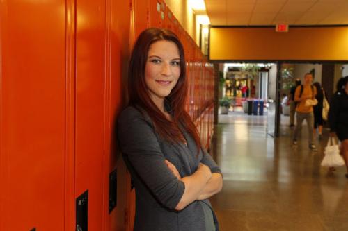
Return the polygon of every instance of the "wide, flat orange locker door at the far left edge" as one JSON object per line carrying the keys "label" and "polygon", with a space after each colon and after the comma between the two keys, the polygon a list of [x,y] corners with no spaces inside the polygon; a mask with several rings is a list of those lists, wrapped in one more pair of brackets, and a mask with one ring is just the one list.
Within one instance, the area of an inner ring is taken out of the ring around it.
{"label": "wide, flat orange locker door at the far left edge", "polygon": [[0,3],[3,231],[64,230],[65,16],[63,0]]}

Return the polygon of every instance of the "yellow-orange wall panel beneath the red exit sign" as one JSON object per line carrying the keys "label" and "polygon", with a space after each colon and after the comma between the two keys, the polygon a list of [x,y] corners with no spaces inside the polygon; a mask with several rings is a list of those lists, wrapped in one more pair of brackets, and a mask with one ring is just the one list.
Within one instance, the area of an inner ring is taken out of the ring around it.
{"label": "yellow-orange wall panel beneath the red exit sign", "polygon": [[211,28],[210,60],[348,60],[348,26]]}

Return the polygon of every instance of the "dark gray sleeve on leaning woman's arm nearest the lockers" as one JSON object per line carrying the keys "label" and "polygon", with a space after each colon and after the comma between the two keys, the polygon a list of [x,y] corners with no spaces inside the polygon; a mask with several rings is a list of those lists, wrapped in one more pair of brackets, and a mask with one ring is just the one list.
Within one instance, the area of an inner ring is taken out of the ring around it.
{"label": "dark gray sleeve on leaning woman's arm nearest the lockers", "polygon": [[175,209],[185,186],[166,166],[152,123],[127,108],[118,119],[118,140],[122,154],[159,203]]}

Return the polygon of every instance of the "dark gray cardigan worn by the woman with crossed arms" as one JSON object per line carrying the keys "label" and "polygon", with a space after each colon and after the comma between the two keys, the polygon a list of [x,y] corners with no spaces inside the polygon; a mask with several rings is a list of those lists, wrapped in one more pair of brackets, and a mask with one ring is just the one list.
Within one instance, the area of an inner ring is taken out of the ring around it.
{"label": "dark gray cardigan worn by the woman with crossed arms", "polygon": [[[164,160],[173,163],[182,177],[191,176],[199,162],[209,166],[212,173],[221,171],[206,151],[201,150],[197,158],[194,139],[188,132],[182,132],[187,146],[169,144],[161,139],[150,117],[132,106],[118,117],[120,149],[136,190],[134,231],[205,230],[202,203],[211,207],[209,200],[196,200],[181,211],[176,211],[185,186],[175,178]],[[216,216],[214,220],[216,230],[219,230]]]}

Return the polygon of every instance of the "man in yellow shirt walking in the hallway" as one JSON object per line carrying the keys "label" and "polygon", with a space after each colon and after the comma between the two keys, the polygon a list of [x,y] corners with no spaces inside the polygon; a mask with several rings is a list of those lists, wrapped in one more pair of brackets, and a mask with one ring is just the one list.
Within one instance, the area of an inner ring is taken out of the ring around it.
{"label": "man in yellow shirt walking in the hallway", "polygon": [[[308,100],[314,100],[315,95],[317,94],[315,87],[312,86],[313,75],[307,73],[304,77],[304,84],[296,87],[294,94],[294,101],[297,102],[296,105],[296,126],[294,129],[294,135],[292,137],[292,144],[297,145],[297,137],[302,128],[303,120],[306,119],[308,126],[308,146],[310,150],[317,151],[317,148],[314,144],[313,137],[313,125],[314,125],[314,116],[313,116],[313,105],[309,105]],[[308,101],[308,102],[307,102]]]}

